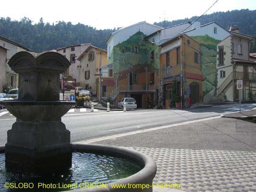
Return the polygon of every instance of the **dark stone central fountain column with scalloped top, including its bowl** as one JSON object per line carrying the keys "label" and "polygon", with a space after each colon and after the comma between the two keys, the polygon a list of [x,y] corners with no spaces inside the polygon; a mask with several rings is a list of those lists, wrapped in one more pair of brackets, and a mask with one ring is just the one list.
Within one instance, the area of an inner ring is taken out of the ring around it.
{"label": "dark stone central fountain column with scalloped top, including its bowl", "polygon": [[30,171],[69,168],[70,132],[61,117],[75,102],[59,101],[59,74],[69,61],[55,52],[19,52],[8,64],[19,73],[19,100],[4,102],[17,118],[7,133],[6,167]]}

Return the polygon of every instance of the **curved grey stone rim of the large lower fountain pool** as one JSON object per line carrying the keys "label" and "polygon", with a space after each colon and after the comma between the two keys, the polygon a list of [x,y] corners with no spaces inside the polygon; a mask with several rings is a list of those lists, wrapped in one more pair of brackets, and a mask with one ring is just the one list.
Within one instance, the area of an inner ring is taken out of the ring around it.
{"label": "curved grey stone rim of the large lower fountain pool", "polygon": [[[138,151],[126,149],[123,147],[114,147],[114,146],[104,146],[104,145],[95,145],[95,144],[72,144],[72,150],[74,152],[79,152],[79,153],[96,153],[96,154],[104,154],[106,156],[116,156],[118,158],[126,158],[126,159],[131,159],[133,161],[138,162],[139,164],[142,165],[142,169],[139,170],[139,172],[111,182],[106,184],[106,188],[75,188],[74,192],[152,192],[152,188],[112,188],[111,185],[113,184],[148,184],[149,186],[152,185],[152,181],[154,179],[154,176],[156,174],[156,164],[153,161],[153,159],[143,153],[140,153]],[[4,152],[4,147],[0,147],[0,153]],[[65,177],[65,176],[64,176]],[[100,176],[99,176],[100,177]],[[79,181],[83,181],[83,178]],[[12,181],[15,182],[15,181]],[[23,181],[24,182],[24,181]],[[41,182],[41,181],[39,181]],[[86,181],[83,181],[86,182]],[[96,181],[97,183],[97,181]],[[36,186],[36,185],[35,185]],[[79,186],[79,185],[78,185]],[[35,190],[37,188],[34,188]],[[68,189],[67,189],[68,190]],[[58,190],[56,190],[58,191]],[[63,189],[62,189],[63,191]],[[70,192],[70,190],[68,190]],[[66,191],[66,192],[68,192]]]}

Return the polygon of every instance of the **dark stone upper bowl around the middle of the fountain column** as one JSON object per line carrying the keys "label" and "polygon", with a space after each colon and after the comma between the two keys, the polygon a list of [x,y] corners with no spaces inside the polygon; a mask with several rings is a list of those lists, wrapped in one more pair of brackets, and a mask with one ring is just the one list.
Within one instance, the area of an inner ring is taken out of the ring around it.
{"label": "dark stone upper bowl around the middle of the fountain column", "polygon": [[59,121],[75,102],[70,101],[19,101],[3,102],[6,109],[23,121]]}

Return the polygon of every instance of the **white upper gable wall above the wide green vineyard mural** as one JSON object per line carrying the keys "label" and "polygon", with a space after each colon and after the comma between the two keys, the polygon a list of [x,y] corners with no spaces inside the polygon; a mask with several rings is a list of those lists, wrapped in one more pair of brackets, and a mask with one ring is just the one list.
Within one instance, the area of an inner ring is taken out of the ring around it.
{"label": "white upper gable wall above the wide green vineyard mural", "polygon": [[159,29],[162,29],[162,27],[152,25],[150,23],[146,23],[146,21],[143,21],[143,22],[139,22],[134,25],[127,26],[127,27],[121,28],[119,30],[116,30],[109,36],[109,38],[106,42],[107,48],[108,48],[108,57],[110,57],[112,49],[115,45],[127,40],[133,34],[136,34],[138,31],[142,32],[145,35],[149,35]]}

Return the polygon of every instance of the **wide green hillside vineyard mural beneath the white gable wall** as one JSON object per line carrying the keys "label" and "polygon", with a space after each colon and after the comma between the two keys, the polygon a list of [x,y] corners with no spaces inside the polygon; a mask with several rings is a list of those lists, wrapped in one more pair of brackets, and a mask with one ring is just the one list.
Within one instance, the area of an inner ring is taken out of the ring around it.
{"label": "wide green hillside vineyard mural beneath the white gable wall", "polygon": [[159,47],[146,41],[145,34],[138,31],[128,40],[114,46],[109,63],[113,62],[113,72],[118,73],[137,65],[159,67]]}

